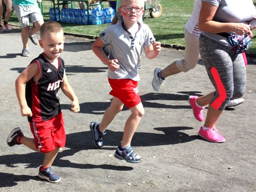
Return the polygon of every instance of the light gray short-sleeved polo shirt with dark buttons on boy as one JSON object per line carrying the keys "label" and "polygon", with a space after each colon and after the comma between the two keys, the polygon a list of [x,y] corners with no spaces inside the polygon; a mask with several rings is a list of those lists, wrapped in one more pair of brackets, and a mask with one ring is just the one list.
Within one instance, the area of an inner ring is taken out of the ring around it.
{"label": "light gray short-sleeved polo shirt with dark buttons on boy", "polygon": [[138,65],[144,47],[151,45],[153,33],[146,24],[140,24],[136,34],[130,34],[123,23],[108,26],[100,35],[101,40],[110,45],[110,59],[118,59],[119,69],[108,71],[110,79],[132,79],[138,81]]}

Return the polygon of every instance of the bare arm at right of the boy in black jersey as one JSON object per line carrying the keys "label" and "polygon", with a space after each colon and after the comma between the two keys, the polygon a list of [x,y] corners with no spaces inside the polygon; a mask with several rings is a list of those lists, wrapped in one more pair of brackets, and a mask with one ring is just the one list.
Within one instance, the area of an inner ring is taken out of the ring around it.
{"label": "bare arm at right of the boy in black jersey", "polygon": [[64,92],[64,94],[70,99],[72,100],[71,103],[71,111],[72,112],[79,112],[80,111],[80,106],[79,106],[79,101],[75,95],[75,93],[73,92],[72,87],[70,86],[70,84],[68,83],[66,74],[64,74],[64,78],[63,78],[63,82],[61,84],[61,90]]}

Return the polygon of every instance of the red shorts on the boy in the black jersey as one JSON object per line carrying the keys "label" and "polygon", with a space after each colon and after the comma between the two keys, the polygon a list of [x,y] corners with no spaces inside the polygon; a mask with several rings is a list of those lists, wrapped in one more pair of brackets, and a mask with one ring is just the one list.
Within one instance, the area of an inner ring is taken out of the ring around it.
{"label": "red shorts on the boy in the black jersey", "polygon": [[30,122],[29,125],[38,152],[48,153],[56,147],[65,146],[66,133],[62,112],[47,121]]}

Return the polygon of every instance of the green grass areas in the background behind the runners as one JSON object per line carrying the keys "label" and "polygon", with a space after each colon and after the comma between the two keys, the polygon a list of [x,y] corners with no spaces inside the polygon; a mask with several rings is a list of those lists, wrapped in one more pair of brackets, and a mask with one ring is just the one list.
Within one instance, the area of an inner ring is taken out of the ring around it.
{"label": "green grass areas in the background behind the runners", "polygon": [[[256,5],[256,0],[253,0]],[[44,19],[49,20],[49,8],[53,7],[51,1],[43,0]],[[185,45],[184,26],[189,19],[192,9],[193,0],[161,0],[163,7],[162,15],[159,18],[151,18],[146,10],[144,23],[149,25],[157,41],[171,45]],[[109,7],[108,2],[104,2],[104,7]],[[79,8],[77,2],[75,8]],[[9,20],[10,24],[19,25],[18,19],[14,14]],[[99,36],[110,24],[103,25],[77,25],[62,23],[64,32],[78,33],[84,35]],[[256,33],[256,30],[254,31]],[[249,52],[256,53],[256,36]]]}

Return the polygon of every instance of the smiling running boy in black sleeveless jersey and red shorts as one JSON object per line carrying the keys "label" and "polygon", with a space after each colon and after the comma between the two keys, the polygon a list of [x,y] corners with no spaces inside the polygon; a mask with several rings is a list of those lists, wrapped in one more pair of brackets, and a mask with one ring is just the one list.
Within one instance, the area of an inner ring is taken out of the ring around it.
{"label": "smiling running boy in black sleeveless jersey and red shorts", "polygon": [[7,144],[24,144],[32,150],[44,153],[45,158],[38,176],[57,183],[61,178],[55,174],[51,165],[59,148],[64,147],[66,141],[58,98],[59,89],[72,100],[73,112],[79,112],[80,107],[67,81],[64,61],[60,58],[65,41],[61,25],[55,21],[44,23],[40,29],[40,38],[39,44],[44,52],[31,61],[15,82],[21,115],[27,116],[34,139],[25,137],[18,127],[11,131]]}

